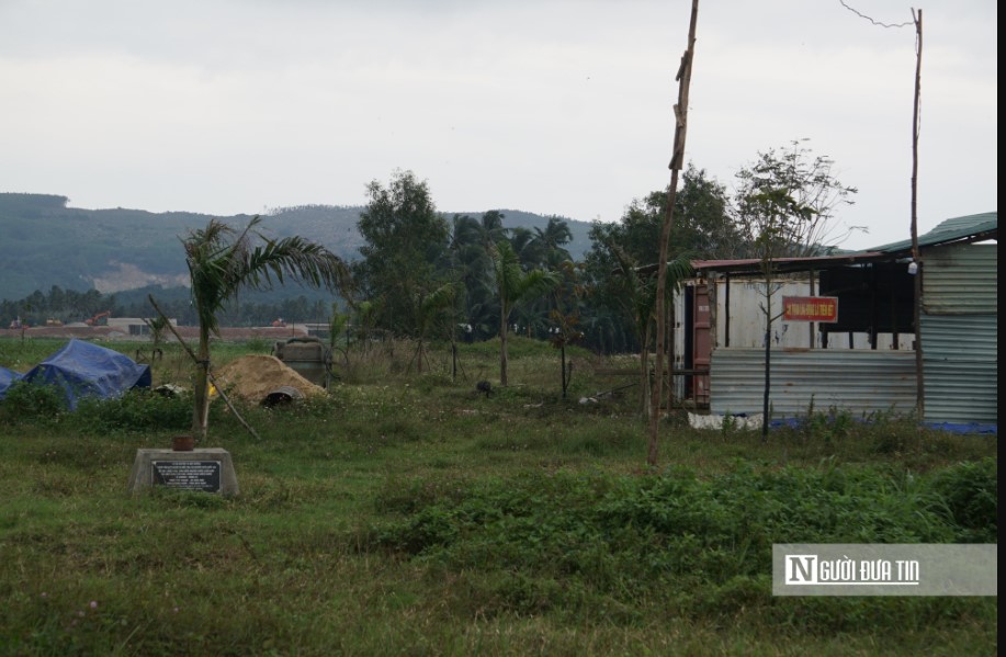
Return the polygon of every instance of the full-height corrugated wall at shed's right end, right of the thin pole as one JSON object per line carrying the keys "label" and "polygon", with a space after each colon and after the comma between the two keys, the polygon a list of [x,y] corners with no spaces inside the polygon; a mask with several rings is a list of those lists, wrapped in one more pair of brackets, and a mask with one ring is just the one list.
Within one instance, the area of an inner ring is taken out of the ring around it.
{"label": "full-height corrugated wall at shed's right end, right of the thin pole", "polygon": [[924,252],[926,419],[998,422],[997,245]]}

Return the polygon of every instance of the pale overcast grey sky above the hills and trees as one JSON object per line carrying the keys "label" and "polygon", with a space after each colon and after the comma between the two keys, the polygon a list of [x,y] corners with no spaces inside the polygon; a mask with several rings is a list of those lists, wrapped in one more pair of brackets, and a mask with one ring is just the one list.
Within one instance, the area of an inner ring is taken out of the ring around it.
{"label": "pale overcast grey sky above the hills and trees", "polygon": [[[447,213],[614,222],[670,181],[690,9],[0,0],[0,192],[257,214],[364,205],[402,170]],[[915,9],[925,233],[997,209],[997,8]],[[805,139],[858,189],[833,235],[866,231],[841,246],[908,239],[915,67],[911,4],[700,1],[686,161],[732,190],[759,152]]]}

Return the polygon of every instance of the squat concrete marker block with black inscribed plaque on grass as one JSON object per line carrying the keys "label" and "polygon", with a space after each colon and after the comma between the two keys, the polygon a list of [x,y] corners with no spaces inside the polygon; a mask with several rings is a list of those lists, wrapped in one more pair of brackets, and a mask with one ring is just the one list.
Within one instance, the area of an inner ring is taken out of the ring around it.
{"label": "squat concrete marker block with black inscribed plaque on grass", "polygon": [[230,452],[221,448],[191,452],[136,450],[129,491],[143,492],[154,487],[237,495],[238,479]]}

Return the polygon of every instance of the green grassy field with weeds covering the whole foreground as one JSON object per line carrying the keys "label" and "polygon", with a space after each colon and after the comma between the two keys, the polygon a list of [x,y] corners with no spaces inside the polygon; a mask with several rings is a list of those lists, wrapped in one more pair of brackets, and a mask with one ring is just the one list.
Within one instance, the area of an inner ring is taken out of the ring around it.
{"label": "green grassy field with weeds covering the whole foreground", "polygon": [[[0,342],[24,372],[63,342]],[[106,344],[132,354],[135,343]],[[264,343],[217,344],[214,362]],[[215,403],[241,494],[126,491],[137,449],[188,430],[189,399],[61,411],[0,401],[2,655],[994,655],[995,598],[773,598],[772,543],[996,543],[995,435],[843,415],[700,432],[660,466],[632,383],[515,340],[425,372],[351,350],[323,398]],[[155,385],[189,382],[177,346]]]}

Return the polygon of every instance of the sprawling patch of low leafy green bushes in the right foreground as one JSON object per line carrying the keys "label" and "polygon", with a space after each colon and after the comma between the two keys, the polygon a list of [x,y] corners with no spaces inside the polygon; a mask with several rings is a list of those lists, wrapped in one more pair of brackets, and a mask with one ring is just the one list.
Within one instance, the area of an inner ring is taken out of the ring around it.
{"label": "sprawling patch of low leafy green bushes in the right foreground", "polygon": [[[692,613],[727,613],[736,604],[769,603],[775,543],[994,542],[995,494],[994,462],[936,479],[834,464],[767,472],[741,464],[710,479],[688,469],[535,474],[385,491],[378,510],[404,517],[374,535],[382,550],[434,568],[479,569],[489,579],[522,573],[624,604],[664,596],[674,581],[700,602]],[[934,499],[945,501],[937,509]],[[494,591],[500,610],[523,608],[501,593]],[[563,604],[555,599],[541,608]]]}

